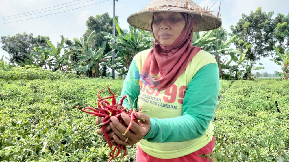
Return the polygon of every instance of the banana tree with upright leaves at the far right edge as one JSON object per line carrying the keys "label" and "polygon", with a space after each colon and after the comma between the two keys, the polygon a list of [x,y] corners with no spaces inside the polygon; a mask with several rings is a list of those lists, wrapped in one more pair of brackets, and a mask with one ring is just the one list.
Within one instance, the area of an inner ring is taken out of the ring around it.
{"label": "banana tree with upright leaves at the far right edge", "polygon": [[283,76],[283,79],[288,79],[289,48],[287,48],[287,50],[284,50],[285,51],[284,54],[280,53],[279,48],[277,48],[277,47],[273,47],[273,48],[274,48],[277,56],[279,57],[279,60],[277,60],[277,59],[270,59],[270,60],[281,66],[283,72],[282,73],[277,72],[279,74],[279,76]]}

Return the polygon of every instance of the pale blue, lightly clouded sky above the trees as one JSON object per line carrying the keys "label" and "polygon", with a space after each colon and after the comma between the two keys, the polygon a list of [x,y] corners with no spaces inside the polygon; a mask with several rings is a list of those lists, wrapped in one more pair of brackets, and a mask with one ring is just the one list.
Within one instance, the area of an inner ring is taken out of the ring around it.
{"label": "pale blue, lightly clouded sky above the trees", "polygon": [[[115,15],[119,16],[120,27],[129,29],[127,17],[141,11],[150,1],[115,1]],[[202,8],[212,6],[210,10],[216,11],[215,14],[221,3],[222,27],[229,33],[230,26],[236,25],[242,14],[249,15],[258,7],[262,7],[262,12],[267,14],[273,11],[273,18],[278,13],[284,15],[289,13],[288,0],[195,0],[194,2]],[[56,45],[61,40],[60,35],[71,40],[82,37],[87,29],[85,23],[88,17],[105,12],[113,16],[113,0],[0,0],[0,36],[33,33],[34,37],[49,36],[51,42]],[[0,58],[3,55],[9,57],[0,44]],[[273,74],[275,71],[281,71],[281,67],[268,58],[261,59],[260,62],[265,67],[259,70],[260,73]]]}

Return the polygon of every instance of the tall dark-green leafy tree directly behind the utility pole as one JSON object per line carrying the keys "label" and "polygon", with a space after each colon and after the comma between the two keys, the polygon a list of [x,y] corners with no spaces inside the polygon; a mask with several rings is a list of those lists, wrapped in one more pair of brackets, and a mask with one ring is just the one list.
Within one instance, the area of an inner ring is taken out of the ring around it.
{"label": "tall dark-green leafy tree directly behind the utility pole", "polygon": [[[115,16],[115,19],[118,21],[118,16]],[[91,48],[93,51],[98,50],[98,48],[101,46],[103,41],[108,41],[104,35],[101,34],[101,31],[111,33],[112,34],[112,21],[113,18],[110,17],[110,15],[105,12],[102,15],[96,15],[95,17],[90,16],[88,20],[86,21],[87,30],[83,34],[83,39],[86,41],[90,34],[95,31],[95,36],[93,39],[89,42],[88,48]],[[109,45],[106,45],[105,53],[108,53],[110,51]]]}

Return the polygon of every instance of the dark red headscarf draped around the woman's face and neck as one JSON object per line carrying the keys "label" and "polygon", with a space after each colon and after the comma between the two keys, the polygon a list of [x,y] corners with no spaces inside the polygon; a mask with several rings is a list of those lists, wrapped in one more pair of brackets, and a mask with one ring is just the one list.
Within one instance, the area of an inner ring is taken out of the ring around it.
{"label": "dark red headscarf draped around the woman's face and neck", "polygon": [[[181,35],[170,46],[162,46],[155,39],[153,49],[142,65],[142,74],[150,80],[151,87],[166,89],[171,86],[201,50],[200,47],[191,44],[194,19],[187,13],[183,14],[186,24]],[[152,27],[151,29],[153,30]],[[155,35],[153,37],[155,38]]]}

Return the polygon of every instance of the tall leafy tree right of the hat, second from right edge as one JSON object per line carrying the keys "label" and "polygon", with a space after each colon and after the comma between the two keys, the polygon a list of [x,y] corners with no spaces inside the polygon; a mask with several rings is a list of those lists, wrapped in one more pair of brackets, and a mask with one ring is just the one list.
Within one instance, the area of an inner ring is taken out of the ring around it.
{"label": "tall leafy tree right of the hat, second from right edge", "polygon": [[255,61],[267,57],[274,45],[274,25],[271,18],[274,12],[266,14],[259,7],[249,15],[242,14],[242,18],[236,26],[231,26],[232,34],[236,34],[240,40],[234,41],[235,46],[244,51],[248,49],[246,59],[249,61],[248,77],[251,78],[251,69]]}

